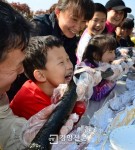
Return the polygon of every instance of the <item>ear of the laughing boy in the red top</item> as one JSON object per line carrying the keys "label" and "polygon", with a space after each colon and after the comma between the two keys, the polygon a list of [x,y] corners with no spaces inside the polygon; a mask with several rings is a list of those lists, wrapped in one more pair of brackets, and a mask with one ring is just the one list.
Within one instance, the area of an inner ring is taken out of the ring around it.
{"label": "ear of the laughing boy in the red top", "polygon": [[34,75],[35,79],[39,82],[45,82],[46,81],[46,76],[45,76],[43,70],[34,70],[33,75]]}

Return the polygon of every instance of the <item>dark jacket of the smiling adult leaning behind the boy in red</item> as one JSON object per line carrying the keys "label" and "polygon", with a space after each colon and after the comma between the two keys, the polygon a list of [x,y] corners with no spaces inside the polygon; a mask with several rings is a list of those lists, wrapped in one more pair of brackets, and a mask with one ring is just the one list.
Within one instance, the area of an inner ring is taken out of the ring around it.
{"label": "dark jacket of the smiling adult leaning behind the boy in red", "polygon": [[79,39],[77,37],[67,38],[62,34],[54,13],[35,16],[32,24],[34,28],[32,36],[54,35],[61,39],[71,62],[75,66],[77,61],[75,51]]}

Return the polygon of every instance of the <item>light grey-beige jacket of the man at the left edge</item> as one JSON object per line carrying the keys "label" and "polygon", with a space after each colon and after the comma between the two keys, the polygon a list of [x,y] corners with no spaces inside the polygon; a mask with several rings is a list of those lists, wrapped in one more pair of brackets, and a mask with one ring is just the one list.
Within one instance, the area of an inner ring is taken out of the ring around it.
{"label": "light grey-beige jacket of the man at the left edge", "polygon": [[27,122],[24,118],[15,116],[9,108],[9,100],[6,94],[0,96],[0,149],[22,150],[21,132]]}

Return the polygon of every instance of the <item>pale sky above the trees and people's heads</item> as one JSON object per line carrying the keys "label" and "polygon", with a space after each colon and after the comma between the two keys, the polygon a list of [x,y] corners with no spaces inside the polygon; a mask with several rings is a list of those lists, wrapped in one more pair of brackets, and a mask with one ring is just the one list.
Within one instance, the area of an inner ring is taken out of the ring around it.
{"label": "pale sky above the trees and people's heads", "polygon": [[[30,7],[31,10],[47,10],[53,5],[57,3],[58,0],[7,0],[8,2],[20,2],[26,3]],[[106,4],[108,0],[93,0],[96,3],[102,3],[103,5]],[[132,14],[135,17],[135,0],[123,0],[126,6],[132,9]]]}

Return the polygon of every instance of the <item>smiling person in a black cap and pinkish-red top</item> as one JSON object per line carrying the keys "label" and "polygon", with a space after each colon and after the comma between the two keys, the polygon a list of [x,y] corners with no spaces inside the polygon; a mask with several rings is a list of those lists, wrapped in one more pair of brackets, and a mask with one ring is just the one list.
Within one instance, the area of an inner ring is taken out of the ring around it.
{"label": "smiling person in a black cap and pinkish-red top", "polygon": [[106,5],[107,21],[105,33],[114,33],[116,27],[120,26],[127,17],[127,13],[131,12],[122,0],[109,0]]}

